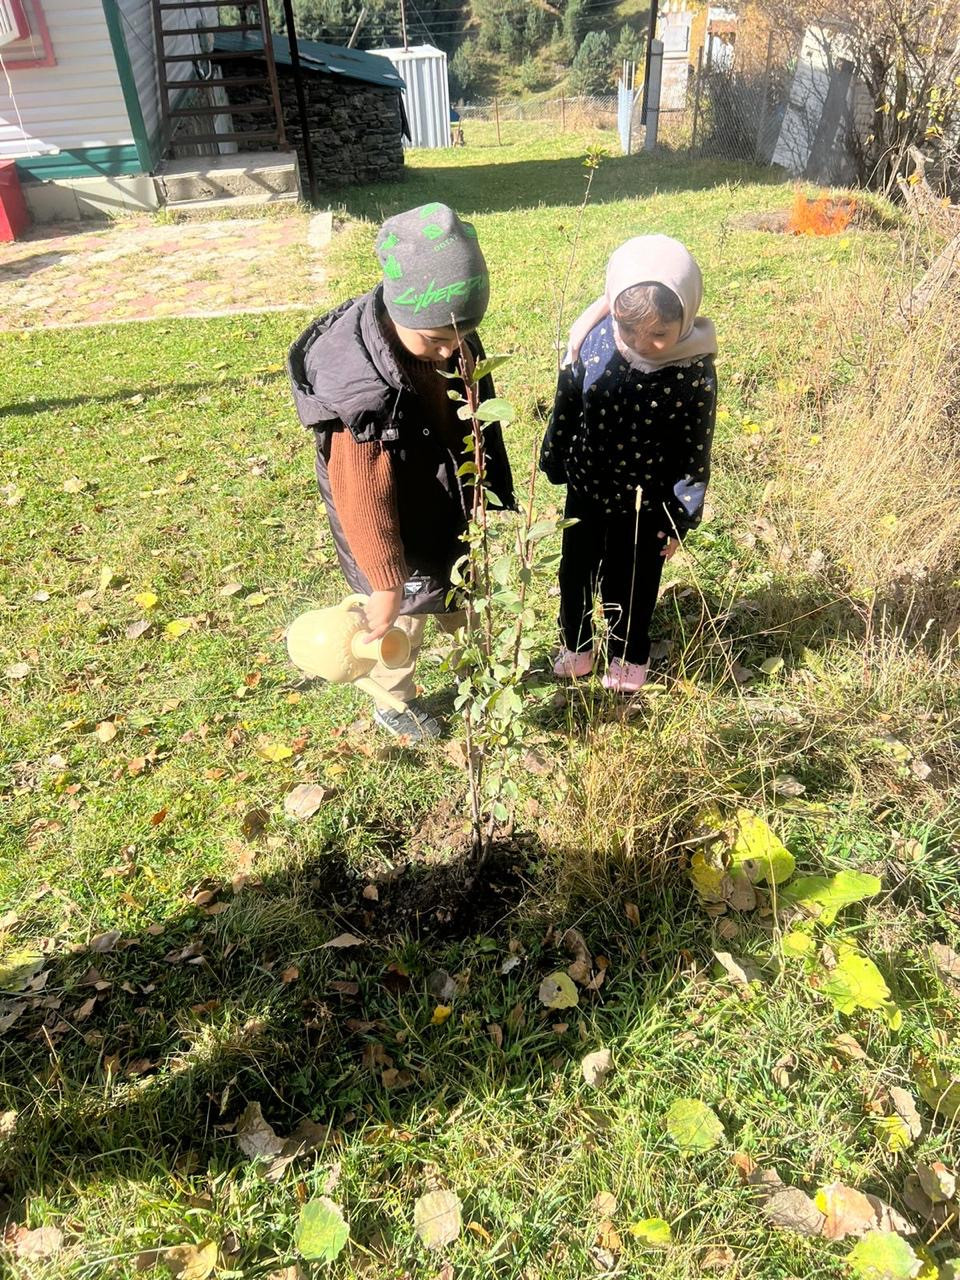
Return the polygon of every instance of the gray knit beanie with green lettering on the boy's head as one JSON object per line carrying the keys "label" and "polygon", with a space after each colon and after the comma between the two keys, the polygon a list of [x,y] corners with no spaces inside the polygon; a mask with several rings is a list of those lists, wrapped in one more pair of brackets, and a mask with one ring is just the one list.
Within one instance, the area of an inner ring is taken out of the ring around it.
{"label": "gray knit beanie with green lettering on the boy's head", "polygon": [[476,230],[447,205],[388,218],[376,237],[387,314],[407,329],[463,328],[483,320],[490,276]]}

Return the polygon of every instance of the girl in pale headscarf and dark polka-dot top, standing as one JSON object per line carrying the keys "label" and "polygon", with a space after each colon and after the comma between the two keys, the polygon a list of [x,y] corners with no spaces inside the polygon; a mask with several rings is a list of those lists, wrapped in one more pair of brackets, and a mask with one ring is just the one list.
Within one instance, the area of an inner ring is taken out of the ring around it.
{"label": "girl in pale headscarf and dark polka-dot top, standing", "polygon": [[559,568],[563,646],[554,673],[594,668],[593,605],[609,632],[607,689],[646,680],[664,561],[703,512],[717,408],[717,338],[698,315],[703,278],[668,236],[637,236],[576,320],[540,467],[567,485]]}

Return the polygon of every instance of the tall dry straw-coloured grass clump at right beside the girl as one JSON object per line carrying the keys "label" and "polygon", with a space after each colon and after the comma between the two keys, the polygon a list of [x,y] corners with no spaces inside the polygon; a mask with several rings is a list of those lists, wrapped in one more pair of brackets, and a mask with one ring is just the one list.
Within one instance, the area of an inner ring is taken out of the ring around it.
{"label": "tall dry straw-coloured grass clump at right beside the girl", "polygon": [[800,370],[776,383],[771,511],[781,534],[808,554],[822,552],[854,594],[923,599],[954,628],[960,271],[941,273],[925,306],[909,307],[924,257],[942,243],[929,223],[916,225],[886,279],[864,257],[852,284],[819,294]]}

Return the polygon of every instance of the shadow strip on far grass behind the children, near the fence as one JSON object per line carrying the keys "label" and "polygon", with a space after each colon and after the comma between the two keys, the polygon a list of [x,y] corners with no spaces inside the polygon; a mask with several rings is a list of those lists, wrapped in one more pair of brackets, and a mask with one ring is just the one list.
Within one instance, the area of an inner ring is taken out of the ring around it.
{"label": "shadow strip on far grass behind the children, near the fence", "polygon": [[[484,148],[486,154],[488,148]],[[463,164],[463,154],[460,152],[460,159],[451,165],[407,169],[402,183],[348,187],[337,193],[337,202],[355,216],[375,221],[399,207],[428,200],[444,201],[463,214],[580,204],[585,178],[581,157],[511,160],[509,145],[490,148],[489,155],[489,163]],[[590,204],[603,205],[676,191],[707,191],[740,182],[777,186],[782,174],[778,169],[730,160],[608,156],[594,177]]]}

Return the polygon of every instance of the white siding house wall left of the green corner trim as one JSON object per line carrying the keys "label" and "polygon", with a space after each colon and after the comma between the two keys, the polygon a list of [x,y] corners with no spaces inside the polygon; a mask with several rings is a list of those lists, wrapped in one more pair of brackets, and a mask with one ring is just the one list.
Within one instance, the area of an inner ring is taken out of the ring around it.
{"label": "white siding house wall left of the green corner trim", "polygon": [[46,0],[44,14],[56,65],[9,65],[13,99],[0,74],[0,157],[132,143],[100,0]]}

